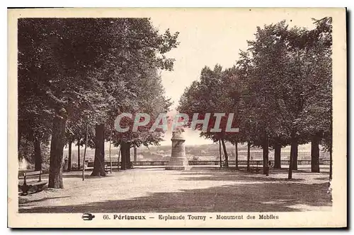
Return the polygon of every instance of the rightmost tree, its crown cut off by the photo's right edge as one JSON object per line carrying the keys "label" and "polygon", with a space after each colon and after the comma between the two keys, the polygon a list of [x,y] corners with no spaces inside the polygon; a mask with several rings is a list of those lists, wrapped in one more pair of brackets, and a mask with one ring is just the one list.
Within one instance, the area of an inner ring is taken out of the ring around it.
{"label": "rightmost tree, its crown cut off by the photo's right edge", "polygon": [[[312,172],[319,172],[319,144],[330,152],[332,135],[332,19],[314,20],[316,28],[308,32],[308,44],[304,47],[312,52],[316,69],[314,78],[318,81],[314,97],[306,107],[307,115],[304,131],[312,142]],[[331,161],[330,161],[331,162]],[[331,174],[331,167],[330,167]]]}

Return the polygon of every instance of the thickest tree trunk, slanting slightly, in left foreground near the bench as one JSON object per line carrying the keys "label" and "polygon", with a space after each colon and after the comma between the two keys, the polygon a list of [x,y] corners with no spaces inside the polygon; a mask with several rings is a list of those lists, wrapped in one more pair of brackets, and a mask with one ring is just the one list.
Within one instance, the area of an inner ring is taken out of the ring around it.
{"label": "thickest tree trunk, slanting slightly, in left foreground near the bench", "polygon": [[50,170],[48,188],[64,188],[62,178],[63,150],[65,145],[65,125],[67,114],[65,109],[57,112],[53,119],[52,140],[50,141]]}

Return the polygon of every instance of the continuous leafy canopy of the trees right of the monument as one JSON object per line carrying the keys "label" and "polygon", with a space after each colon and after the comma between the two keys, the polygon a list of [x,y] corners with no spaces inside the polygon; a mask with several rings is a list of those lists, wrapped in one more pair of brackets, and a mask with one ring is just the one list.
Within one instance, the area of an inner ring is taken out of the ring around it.
{"label": "continuous leafy canopy of the trees right of the monument", "polygon": [[330,149],[331,18],[314,20],[314,25],[313,30],[289,28],[283,20],[258,27],[236,66],[202,68],[200,80],[183,92],[178,111],[190,120],[195,112],[236,113],[239,133],[212,133],[210,126],[202,131],[215,142],[262,146],[267,137],[274,147],[308,143],[311,135],[321,134]]}

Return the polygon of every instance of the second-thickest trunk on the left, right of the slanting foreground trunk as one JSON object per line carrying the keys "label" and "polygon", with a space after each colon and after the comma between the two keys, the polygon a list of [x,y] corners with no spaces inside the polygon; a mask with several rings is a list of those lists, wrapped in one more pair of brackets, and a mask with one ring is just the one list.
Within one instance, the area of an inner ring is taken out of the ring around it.
{"label": "second-thickest trunk on the left, right of the slanting foreground trunk", "polygon": [[95,162],[91,176],[105,176],[105,124],[96,124],[95,133]]}

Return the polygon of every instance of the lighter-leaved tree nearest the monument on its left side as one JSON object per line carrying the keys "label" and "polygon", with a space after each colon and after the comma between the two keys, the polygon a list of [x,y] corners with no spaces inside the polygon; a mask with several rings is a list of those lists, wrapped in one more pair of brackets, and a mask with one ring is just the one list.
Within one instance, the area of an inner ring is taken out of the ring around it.
{"label": "lighter-leaved tree nearest the monument on its left side", "polygon": [[[113,42],[113,46],[120,47],[121,52],[110,52],[106,61],[109,69],[103,71],[108,78],[105,87],[112,97],[103,122],[108,123],[110,128],[115,117],[122,112],[144,112],[154,119],[157,114],[167,111],[171,102],[164,97],[158,70],[173,68],[173,59],[166,58],[164,54],[178,45],[178,32],[172,35],[166,30],[160,35],[148,19],[123,19],[113,24],[115,28],[109,30],[110,34],[120,37],[118,42],[124,43]],[[131,128],[133,122],[127,124]],[[130,168],[130,147],[158,144],[162,140],[161,132],[149,133],[148,126],[139,128],[137,132],[131,129],[127,133],[113,132],[113,143],[121,145],[122,169]]]}

